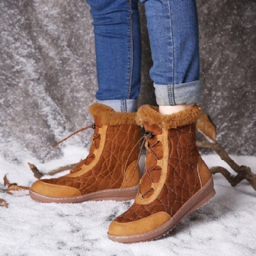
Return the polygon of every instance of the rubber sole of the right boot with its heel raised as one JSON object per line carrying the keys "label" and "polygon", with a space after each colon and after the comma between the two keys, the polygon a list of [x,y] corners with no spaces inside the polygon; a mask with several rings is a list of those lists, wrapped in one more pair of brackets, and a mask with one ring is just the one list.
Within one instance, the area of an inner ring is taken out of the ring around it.
{"label": "rubber sole of the right boot with its heel raised", "polygon": [[151,230],[149,233],[143,233],[138,235],[110,235],[107,233],[108,238],[115,242],[132,243],[132,242],[146,242],[161,238],[163,235],[169,233],[183,218],[194,210],[200,208],[204,204],[208,203],[211,198],[215,196],[215,190],[213,188],[213,178],[206,183],[200,191],[193,195],[183,206],[177,211],[177,213],[166,222],[155,230]]}

